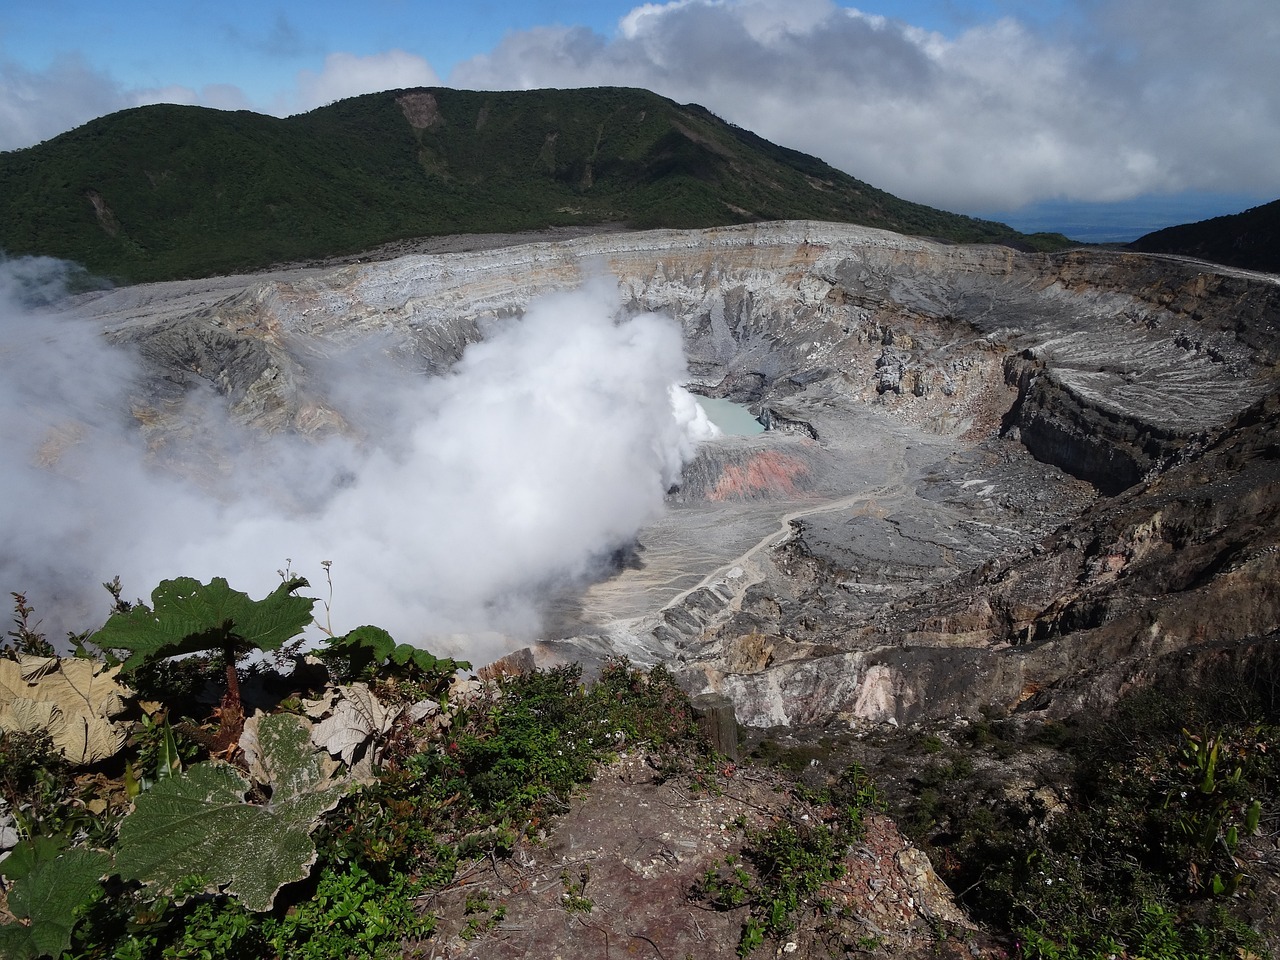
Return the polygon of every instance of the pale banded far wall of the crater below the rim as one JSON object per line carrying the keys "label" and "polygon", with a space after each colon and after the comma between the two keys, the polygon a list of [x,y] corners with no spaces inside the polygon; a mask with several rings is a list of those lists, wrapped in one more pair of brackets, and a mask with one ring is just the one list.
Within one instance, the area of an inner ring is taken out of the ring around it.
{"label": "pale banded far wall of the crater below the rim", "polygon": [[786,419],[787,398],[820,385],[941,434],[1000,416],[1036,456],[1108,492],[1258,399],[1277,360],[1274,280],[817,223],[407,256],[246,278],[195,305],[155,284],[95,308],[142,347],[163,389],[201,379],[247,422],[311,433],[343,422],[316,357],[380,334],[440,372],[531,297],[593,273],[617,278],[625,308],[681,323],[709,393]]}

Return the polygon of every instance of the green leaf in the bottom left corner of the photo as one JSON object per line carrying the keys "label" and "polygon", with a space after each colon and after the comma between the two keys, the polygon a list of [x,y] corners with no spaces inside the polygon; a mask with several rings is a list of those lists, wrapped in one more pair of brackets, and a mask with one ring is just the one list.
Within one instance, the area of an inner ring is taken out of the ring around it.
{"label": "green leaf in the bottom left corner of the photo", "polygon": [[101,850],[35,854],[9,891],[9,911],[18,922],[0,925],[0,956],[32,960],[69,950],[78,910],[99,895],[110,864],[111,856]]}

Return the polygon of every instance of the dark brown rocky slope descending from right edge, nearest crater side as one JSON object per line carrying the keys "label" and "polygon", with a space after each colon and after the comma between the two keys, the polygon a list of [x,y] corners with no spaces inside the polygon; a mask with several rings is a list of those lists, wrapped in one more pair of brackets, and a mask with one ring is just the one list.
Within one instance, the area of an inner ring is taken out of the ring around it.
{"label": "dark brown rocky slope descending from right edge, nearest crater side", "polygon": [[[1280,632],[1277,407],[1267,397],[1189,462],[1097,502],[1029,552],[884,604],[854,637],[840,614],[808,630],[814,649],[844,649],[739,671],[721,689],[756,724],[906,723],[979,708],[1070,716],[1156,673],[1194,673],[1224,648],[1240,669],[1262,668]],[[778,613],[727,631],[806,627]]]}

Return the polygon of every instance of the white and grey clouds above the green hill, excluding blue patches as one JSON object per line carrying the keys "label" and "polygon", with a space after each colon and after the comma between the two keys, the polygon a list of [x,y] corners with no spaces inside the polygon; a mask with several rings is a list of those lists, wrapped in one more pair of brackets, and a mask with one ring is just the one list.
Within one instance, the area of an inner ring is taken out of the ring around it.
{"label": "white and grey clouds above the green hill, excluding blue patches", "polygon": [[[931,4],[897,4],[878,6],[902,10],[902,18],[833,0],[618,6],[608,35],[572,23],[520,27],[458,58],[443,76],[401,31],[374,52],[317,49],[319,68],[253,96],[237,86],[233,65],[227,73],[210,67],[200,87],[129,87],[111,64],[83,51],[36,69],[0,46],[0,148],[146,102],[287,115],[442,82],[480,90],[617,84],[701,104],[879,188],[961,212],[1184,191],[1280,196],[1274,0],[972,0],[947,5],[972,12],[948,31],[910,22]],[[582,5],[561,6],[572,17]],[[532,9],[544,8],[554,19],[556,4]],[[991,9],[1025,14],[995,17]],[[425,36],[431,18],[424,10],[421,19]],[[259,44],[262,55],[305,47],[308,26],[301,10],[294,20],[279,15]],[[0,18],[0,42],[3,27]]]}

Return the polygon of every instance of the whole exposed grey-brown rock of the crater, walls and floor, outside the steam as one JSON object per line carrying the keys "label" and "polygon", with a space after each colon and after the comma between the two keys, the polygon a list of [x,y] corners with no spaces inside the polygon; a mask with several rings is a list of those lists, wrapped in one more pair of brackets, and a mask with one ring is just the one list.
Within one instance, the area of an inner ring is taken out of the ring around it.
{"label": "whole exposed grey-brown rock of the crater, walls and floor, outside the steam", "polygon": [[[256,428],[316,434],[349,429],[326,357],[379,338],[440,374],[531,298],[595,274],[616,278],[622,312],[680,321],[695,389],[786,429],[708,447],[637,568],[553,617],[563,643],[538,657],[682,663],[753,723],[901,722],[1280,628],[1275,278],[781,223],[86,307],[151,364],[157,436],[178,430],[164,401],[193,383]],[[1082,512],[1098,493],[1114,499]]]}

